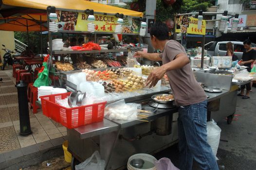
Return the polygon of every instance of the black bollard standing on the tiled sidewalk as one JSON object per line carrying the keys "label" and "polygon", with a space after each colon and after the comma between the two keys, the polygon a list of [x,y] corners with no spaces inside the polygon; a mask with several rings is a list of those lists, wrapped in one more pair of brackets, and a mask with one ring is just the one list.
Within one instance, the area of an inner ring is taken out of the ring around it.
{"label": "black bollard standing on the tiled sidewalk", "polygon": [[18,85],[15,85],[18,90],[18,112],[19,112],[19,128],[20,135],[27,136],[32,134],[29,119],[28,110],[28,96],[27,88],[28,84],[24,81],[19,81]]}

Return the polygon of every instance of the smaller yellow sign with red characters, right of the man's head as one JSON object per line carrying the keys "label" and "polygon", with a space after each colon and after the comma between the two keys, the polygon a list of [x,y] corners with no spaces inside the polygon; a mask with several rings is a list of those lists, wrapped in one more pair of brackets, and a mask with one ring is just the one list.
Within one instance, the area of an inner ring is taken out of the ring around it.
{"label": "smaller yellow sign with red characters, right of the man's head", "polygon": [[205,35],[206,21],[202,20],[202,27],[198,29],[198,19],[194,17],[180,16],[176,18],[176,33]]}

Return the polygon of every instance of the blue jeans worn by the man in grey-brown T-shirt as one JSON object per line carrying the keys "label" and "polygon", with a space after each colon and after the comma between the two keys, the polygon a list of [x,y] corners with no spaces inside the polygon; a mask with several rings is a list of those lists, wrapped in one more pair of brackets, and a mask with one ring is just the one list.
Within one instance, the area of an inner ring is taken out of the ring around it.
{"label": "blue jeans worn by the man in grey-brown T-shirt", "polygon": [[192,170],[193,158],[202,170],[219,170],[215,156],[207,143],[207,102],[179,108],[180,169]]}

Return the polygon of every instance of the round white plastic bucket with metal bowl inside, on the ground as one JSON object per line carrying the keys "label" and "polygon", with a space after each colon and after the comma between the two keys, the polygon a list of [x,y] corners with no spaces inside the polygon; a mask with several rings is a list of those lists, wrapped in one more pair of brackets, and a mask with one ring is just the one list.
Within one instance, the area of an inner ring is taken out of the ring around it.
{"label": "round white plastic bucket with metal bowl inside, on the ground", "polygon": [[134,168],[133,166],[130,165],[130,161],[132,159],[143,159],[145,161],[144,165],[146,165],[148,162],[150,164],[152,163],[154,165],[154,162],[157,161],[157,159],[150,154],[139,153],[139,154],[134,154],[134,155],[130,156],[128,159],[128,163],[127,163],[127,169],[128,170],[156,170],[155,166],[152,168],[148,168],[148,169],[145,169],[145,167],[143,167],[143,169]]}

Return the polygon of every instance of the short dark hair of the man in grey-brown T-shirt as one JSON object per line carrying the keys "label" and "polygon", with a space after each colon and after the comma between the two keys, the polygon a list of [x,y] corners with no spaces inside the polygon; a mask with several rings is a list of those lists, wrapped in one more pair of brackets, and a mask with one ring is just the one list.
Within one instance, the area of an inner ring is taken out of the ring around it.
{"label": "short dark hair of the man in grey-brown T-shirt", "polygon": [[169,30],[165,23],[156,22],[150,28],[150,35],[155,36],[158,40],[169,39]]}

